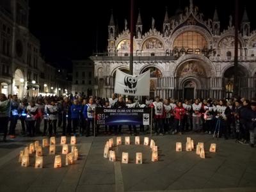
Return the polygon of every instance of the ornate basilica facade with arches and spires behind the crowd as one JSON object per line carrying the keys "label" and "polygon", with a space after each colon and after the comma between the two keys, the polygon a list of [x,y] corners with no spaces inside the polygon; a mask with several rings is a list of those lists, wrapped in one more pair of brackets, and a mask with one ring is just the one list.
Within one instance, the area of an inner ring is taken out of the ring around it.
{"label": "ornate basilica facade with arches and spires behind the crowd", "polygon": [[[228,19],[228,18],[227,18]],[[205,20],[190,0],[189,7],[173,17],[166,10],[163,29],[146,33],[139,13],[134,35],[133,74],[150,70],[150,97],[232,97],[234,86],[234,20],[220,31],[218,11]],[[108,55],[92,56],[95,63],[95,95],[111,97],[116,69],[129,72],[130,31],[117,32],[113,14],[108,26]],[[256,87],[256,31],[244,9],[238,43],[239,95],[251,99]]]}

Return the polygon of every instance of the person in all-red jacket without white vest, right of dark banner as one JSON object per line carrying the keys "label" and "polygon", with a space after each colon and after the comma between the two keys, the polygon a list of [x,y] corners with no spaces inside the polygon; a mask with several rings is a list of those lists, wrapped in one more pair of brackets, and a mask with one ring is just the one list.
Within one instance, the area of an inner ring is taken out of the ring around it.
{"label": "person in all-red jacket without white vest, right of dark banner", "polygon": [[175,129],[177,129],[179,134],[181,134],[182,122],[183,122],[184,115],[186,114],[186,110],[183,108],[182,102],[180,101],[178,102],[178,106],[174,108],[173,114],[174,114],[174,120],[175,120],[174,122]]}

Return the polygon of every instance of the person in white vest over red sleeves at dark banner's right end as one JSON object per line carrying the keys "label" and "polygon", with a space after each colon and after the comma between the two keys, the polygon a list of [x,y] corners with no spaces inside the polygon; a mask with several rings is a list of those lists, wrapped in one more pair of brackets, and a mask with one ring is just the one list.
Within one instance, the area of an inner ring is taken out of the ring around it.
{"label": "person in white vest over red sleeves at dark banner's right end", "polygon": [[[163,119],[165,117],[165,109],[163,102],[160,101],[159,97],[156,96],[155,101],[152,102],[150,108],[154,108],[154,125],[155,134],[163,135]],[[160,130],[160,132],[159,132]]]}

